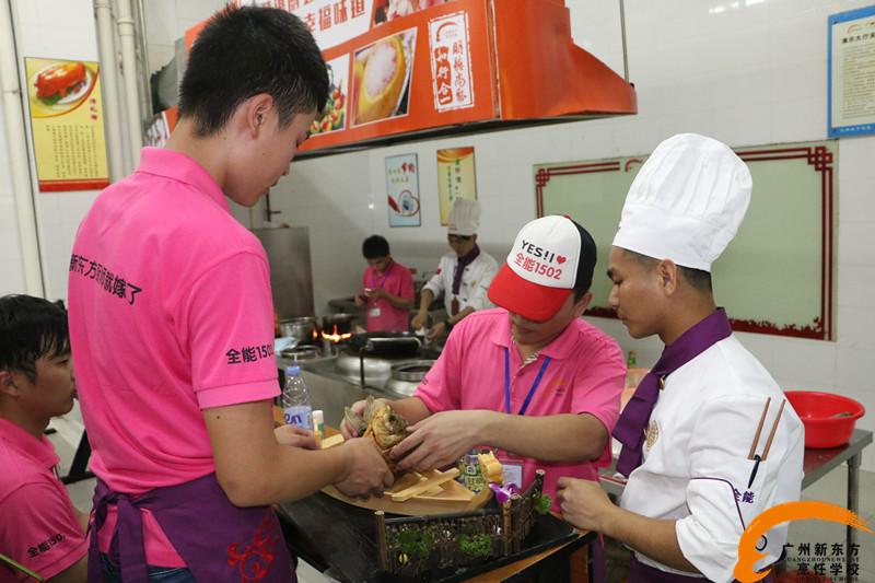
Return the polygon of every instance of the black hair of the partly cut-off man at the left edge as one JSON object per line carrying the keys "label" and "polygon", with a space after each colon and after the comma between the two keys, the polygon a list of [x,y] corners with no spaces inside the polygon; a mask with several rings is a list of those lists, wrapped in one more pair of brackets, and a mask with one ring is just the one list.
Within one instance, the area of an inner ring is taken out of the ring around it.
{"label": "black hair of the partly cut-off man at the left edge", "polygon": [[36,382],[36,361],[70,353],[67,312],[32,295],[0,298],[0,370]]}

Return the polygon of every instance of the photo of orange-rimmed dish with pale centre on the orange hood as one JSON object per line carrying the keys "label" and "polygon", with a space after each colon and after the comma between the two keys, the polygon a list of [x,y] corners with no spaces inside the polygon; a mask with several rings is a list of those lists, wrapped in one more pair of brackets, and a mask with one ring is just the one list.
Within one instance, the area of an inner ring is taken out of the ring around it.
{"label": "photo of orange-rimmed dish with pale centre on the orange hood", "polygon": [[386,36],[355,51],[352,66],[354,126],[407,115],[417,30]]}

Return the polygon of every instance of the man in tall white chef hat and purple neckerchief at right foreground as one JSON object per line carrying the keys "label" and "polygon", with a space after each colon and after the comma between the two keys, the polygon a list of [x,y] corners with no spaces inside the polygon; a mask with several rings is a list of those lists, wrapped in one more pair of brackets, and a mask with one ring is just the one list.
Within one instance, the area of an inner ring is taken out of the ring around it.
{"label": "man in tall white chef hat and purple neckerchief at right foreground", "polygon": [[[800,497],[802,422],[711,288],[751,188],[728,147],[685,133],[656,148],[626,198],[609,302],[633,338],[656,335],[665,349],[614,429],[629,477],[620,506],[586,480],[561,478],[558,495],[567,521],[633,550],[629,583],[733,581],[746,525]],[[758,541],[768,555],[755,569],[779,559],[786,528]]]}

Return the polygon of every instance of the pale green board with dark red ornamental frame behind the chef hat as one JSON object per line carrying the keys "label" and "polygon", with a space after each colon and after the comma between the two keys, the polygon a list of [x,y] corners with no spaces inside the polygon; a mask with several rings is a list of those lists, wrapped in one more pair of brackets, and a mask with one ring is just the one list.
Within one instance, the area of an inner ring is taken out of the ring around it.
{"label": "pale green board with dark red ornamental frame behind the chef hat", "polygon": [[[833,339],[838,140],[739,148],[754,194],[738,234],[712,266],[714,299],[738,331]],[[598,248],[591,316],[608,307],[605,271],[626,194],[646,155],[538,164],[538,217],[568,214]]]}

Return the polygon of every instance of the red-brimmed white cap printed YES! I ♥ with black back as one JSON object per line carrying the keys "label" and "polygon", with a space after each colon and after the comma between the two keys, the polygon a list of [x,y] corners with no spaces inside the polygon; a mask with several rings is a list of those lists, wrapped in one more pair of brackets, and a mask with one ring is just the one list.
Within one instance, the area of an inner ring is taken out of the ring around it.
{"label": "red-brimmed white cap printed YES! I \u2665 with black back", "polygon": [[489,285],[489,300],[535,322],[550,319],[574,288],[590,288],[595,269],[593,237],[568,217],[526,224],[508,261]]}

